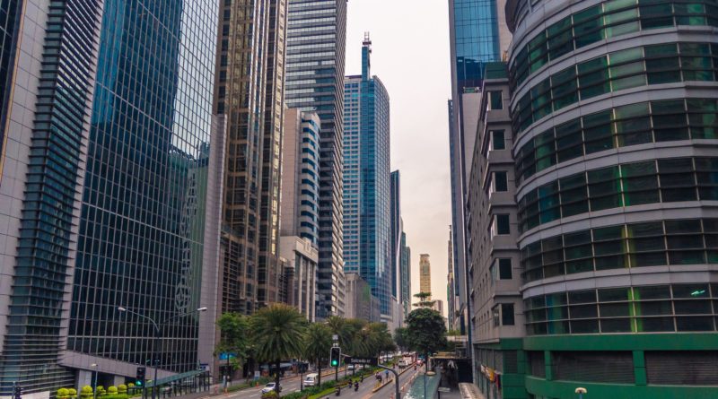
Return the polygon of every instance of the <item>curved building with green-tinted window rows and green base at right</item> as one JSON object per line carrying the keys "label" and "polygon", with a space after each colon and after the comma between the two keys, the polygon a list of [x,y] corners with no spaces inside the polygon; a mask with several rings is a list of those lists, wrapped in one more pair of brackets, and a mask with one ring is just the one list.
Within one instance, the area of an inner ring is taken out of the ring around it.
{"label": "curved building with green-tinted window rows and green base at right", "polygon": [[717,3],[506,17],[526,395],[718,396]]}

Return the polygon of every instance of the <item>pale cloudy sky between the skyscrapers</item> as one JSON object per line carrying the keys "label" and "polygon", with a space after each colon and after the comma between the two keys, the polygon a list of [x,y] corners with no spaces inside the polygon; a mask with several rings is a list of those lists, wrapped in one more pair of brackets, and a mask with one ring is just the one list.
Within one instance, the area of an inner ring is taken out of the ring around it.
{"label": "pale cloudy sky between the skyscrapers", "polygon": [[412,294],[419,291],[419,254],[429,254],[433,299],[443,300],[444,316],[451,224],[448,7],[446,0],[349,0],[346,16],[346,74],[361,74],[369,31],[372,74],[390,95],[391,169],[401,173]]}

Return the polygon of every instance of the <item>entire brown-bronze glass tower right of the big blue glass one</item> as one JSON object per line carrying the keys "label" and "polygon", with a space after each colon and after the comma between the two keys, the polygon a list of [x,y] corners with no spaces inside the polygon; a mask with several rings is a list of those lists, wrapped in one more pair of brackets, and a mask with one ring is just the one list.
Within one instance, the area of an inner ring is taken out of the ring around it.
{"label": "entire brown-bronze glass tower right of the big blue glass one", "polygon": [[220,6],[215,113],[226,116],[223,312],[277,300],[285,0]]}

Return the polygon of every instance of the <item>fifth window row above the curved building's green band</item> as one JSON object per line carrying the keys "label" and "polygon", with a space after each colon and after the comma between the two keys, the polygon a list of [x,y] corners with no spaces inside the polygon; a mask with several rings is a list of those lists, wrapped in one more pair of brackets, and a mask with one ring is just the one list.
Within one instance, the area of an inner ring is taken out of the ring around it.
{"label": "fifth window row above the curved building's green band", "polygon": [[527,91],[512,112],[515,132],[579,100],[646,84],[716,80],[718,45],[665,43],[626,48],[551,74]]}

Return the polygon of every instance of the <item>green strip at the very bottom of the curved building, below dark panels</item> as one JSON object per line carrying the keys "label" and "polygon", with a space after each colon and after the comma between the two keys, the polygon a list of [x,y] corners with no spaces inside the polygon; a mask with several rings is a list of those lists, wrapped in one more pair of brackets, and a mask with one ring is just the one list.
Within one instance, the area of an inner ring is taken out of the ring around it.
{"label": "green strip at the very bottom of the curved building, below dark panels", "polygon": [[718,397],[715,386],[634,386],[625,384],[595,384],[573,381],[546,381],[526,377],[526,390],[533,395],[556,399],[575,399],[575,389],[582,386],[589,398],[650,398],[650,399],[714,399]]}

